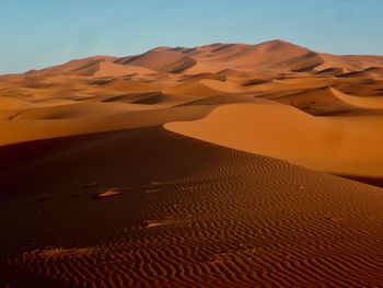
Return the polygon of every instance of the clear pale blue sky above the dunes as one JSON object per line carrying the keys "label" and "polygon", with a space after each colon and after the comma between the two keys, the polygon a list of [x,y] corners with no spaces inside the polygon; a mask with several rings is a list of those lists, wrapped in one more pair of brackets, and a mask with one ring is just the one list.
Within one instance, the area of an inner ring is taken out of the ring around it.
{"label": "clear pale blue sky above the dunes", "polygon": [[282,38],[383,54],[383,0],[0,0],[0,73],[155,46]]}

